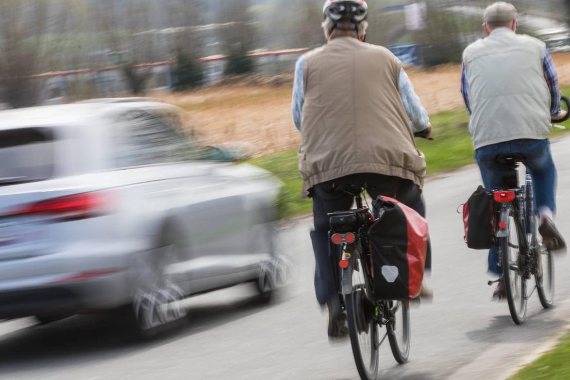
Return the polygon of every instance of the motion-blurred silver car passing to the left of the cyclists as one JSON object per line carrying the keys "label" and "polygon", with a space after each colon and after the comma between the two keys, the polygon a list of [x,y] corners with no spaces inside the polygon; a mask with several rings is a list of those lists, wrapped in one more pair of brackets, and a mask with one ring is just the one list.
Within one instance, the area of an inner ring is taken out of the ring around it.
{"label": "motion-blurred silver car passing to the left of the cyclists", "polygon": [[153,330],[190,295],[270,295],[280,182],[209,160],[180,118],[141,99],[0,112],[0,319],[129,305]]}

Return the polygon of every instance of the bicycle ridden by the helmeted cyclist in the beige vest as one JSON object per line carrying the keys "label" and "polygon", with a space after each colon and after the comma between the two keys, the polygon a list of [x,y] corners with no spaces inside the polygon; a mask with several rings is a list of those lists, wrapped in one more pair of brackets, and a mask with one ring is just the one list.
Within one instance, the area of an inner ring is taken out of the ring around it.
{"label": "bicycle ridden by the helmeted cyclist in the beige vest", "polygon": [[[424,131],[414,136],[425,138],[426,134]],[[410,301],[374,298],[368,230],[378,215],[374,216],[363,204],[362,187],[344,185],[338,186],[337,191],[352,195],[356,209],[328,214],[329,257],[341,308],[347,315],[356,368],[361,379],[373,380],[378,373],[378,349],[386,337],[394,359],[400,364],[408,361]],[[386,332],[380,339],[383,326]]]}

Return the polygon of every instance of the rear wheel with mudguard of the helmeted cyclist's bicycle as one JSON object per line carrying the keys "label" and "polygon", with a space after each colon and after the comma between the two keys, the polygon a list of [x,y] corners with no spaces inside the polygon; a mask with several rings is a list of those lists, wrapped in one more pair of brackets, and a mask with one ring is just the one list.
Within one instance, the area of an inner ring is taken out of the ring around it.
{"label": "rear wheel with mudguard of the helmeted cyclist's bicycle", "polygon": [[[356,252],[355,252],[356,253]],[[352,293],[345,296],[347,307],[348,333],[351,338],[352,353],[356,369],[363,380],[374,380],[378,374],[378,324],[374,320],[375,307],[367,295],[372,289],[364,280],[364,268],[360,254],[353,256],[355,270],[352,274]]]}

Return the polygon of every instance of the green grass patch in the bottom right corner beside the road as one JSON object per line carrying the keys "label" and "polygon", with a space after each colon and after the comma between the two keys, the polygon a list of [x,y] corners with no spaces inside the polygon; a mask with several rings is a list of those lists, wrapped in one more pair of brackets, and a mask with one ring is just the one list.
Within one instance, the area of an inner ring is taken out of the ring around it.
{"label": "green grass patch in the bottom right corner beside the road", "polygon": [[540,357],[510,380],[567,380],[570,378],[570,335],[554,350]]}

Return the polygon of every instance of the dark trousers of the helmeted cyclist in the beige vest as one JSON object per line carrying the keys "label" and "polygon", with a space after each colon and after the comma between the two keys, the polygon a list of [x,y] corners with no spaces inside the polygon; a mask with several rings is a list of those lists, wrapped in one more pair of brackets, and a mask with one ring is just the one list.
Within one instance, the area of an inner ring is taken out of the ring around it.
{"label": "dark trousers of the helmeted cyclist in the beige vest", "polygon": [[[328,256],[328,213],[349,210],[354,201],[352,195],[336,193],[335,186],[359,185],[364,187],[372,199],[378,195],[392,197],[414,209],[425,217],[425,202],[420,188],[412,181],[381,174],[353,174],[333,181],[319,183],[311,189],[315,230],[311,231],[315,252],[315,292],[319,304],[324,305],[336,295],[331,260]],[[427,246],[426,270],[431,269],[431,244]]]}

